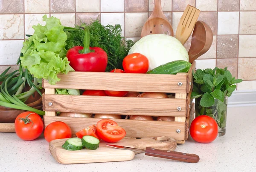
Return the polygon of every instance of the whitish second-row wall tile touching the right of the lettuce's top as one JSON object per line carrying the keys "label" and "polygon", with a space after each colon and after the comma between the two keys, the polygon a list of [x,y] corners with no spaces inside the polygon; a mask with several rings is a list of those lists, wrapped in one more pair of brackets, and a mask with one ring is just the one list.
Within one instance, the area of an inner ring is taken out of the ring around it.
{"label": "whitish second-row wall tile touching the right of the lettuce's top", "polygon": [[76,24],[76,17],[75,13],[54,13],[51,16],[57,17],[61,21],[61,25],[68,26],[68,27],[75,27]]}

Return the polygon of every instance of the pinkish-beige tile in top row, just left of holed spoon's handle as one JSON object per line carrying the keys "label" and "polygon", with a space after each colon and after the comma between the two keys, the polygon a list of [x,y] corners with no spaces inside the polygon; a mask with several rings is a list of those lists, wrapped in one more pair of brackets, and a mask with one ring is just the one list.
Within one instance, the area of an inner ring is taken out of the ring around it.
{"label": "pinkish-beige tile in top row, just left of holed spoon's handle", "polygon": [[147,12],[148,0],[125,0],[126,12]]}

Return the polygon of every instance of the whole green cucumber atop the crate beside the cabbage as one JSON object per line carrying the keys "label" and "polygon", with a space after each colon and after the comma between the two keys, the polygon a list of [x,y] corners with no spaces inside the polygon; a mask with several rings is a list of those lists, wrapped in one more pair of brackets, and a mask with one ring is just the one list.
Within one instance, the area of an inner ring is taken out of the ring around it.
{"label": "whole green cucumber atop the crate beside the cabbage", "polygon": [[147,74],[173,74],[176,75],[179,72],[189,72],[191,63],[185,60],[175,60],[161,66],[158,66],[150,71]]}

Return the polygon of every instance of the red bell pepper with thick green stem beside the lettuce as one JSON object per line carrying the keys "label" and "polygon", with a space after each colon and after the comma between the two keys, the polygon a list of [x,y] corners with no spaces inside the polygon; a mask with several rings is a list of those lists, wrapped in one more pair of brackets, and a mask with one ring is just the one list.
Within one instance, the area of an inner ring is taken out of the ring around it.
{"label": "red bell pepper with thick green stem beside the lettuce", "polygon": [[74,46],[66,56],[70,66],[80,72],[105,72],[108,64],[108,55],[103,49],[90,47],[88,27],[84,28],[84,47]]}

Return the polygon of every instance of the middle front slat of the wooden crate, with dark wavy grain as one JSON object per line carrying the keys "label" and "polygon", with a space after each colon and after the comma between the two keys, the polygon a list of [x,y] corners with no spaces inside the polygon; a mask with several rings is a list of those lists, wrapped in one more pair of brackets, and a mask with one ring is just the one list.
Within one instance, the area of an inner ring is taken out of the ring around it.
{"label": "middle front slat of the wooden crate, with dark wavy grain", "polygon": [[[186,93],[183,93],[186,94]],[[44,95],[44,110],[55,112],[107,113],[119,115],[180,116],[186,118],[186,97],[142,98]],[[49,106],[49,103],[52,106]],[[177,107],[181,107],[181,111]],[[185,120],[184,120],[185,122]]]}

